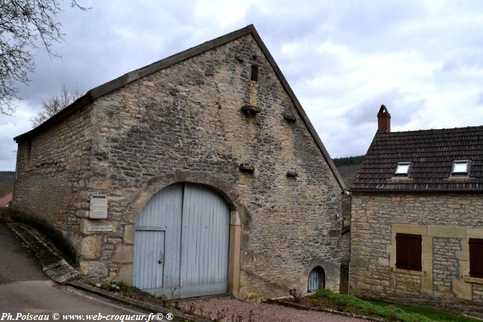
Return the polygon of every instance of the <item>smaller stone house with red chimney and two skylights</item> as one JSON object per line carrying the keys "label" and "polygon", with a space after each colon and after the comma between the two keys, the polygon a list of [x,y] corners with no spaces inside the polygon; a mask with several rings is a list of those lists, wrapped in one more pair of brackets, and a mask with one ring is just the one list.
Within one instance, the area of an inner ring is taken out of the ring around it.
{"label": "smaller stone house with red chimney and two skylights", "polygon": [[350,291],[483,313],[483,127],[379,128],[352,187]]}

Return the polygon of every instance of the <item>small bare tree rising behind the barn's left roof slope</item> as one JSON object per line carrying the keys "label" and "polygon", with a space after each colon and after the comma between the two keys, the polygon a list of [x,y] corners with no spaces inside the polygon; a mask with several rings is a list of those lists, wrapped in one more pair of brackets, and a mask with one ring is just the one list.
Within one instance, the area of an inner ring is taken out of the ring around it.
{"label": "small bare tree rising behind the barn's left roof slope", "polygon": [[76,99],[81,97],[83,90],[81,88],[68,88],[66,85],[62,85],[59,93],[52,95],[46,100],[42,101],[42,108],[35,117],[30,118],[30,123],[37,127],[41,123],[50,119],[55,114],[66,108],[68,105],[74,103]]}

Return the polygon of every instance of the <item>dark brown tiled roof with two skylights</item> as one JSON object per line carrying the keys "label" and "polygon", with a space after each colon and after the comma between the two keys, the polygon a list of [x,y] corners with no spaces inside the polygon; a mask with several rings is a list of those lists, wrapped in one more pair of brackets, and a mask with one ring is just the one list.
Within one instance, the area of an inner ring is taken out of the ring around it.
{"label": "dark brown tiled roof with two skylights", "polygon": [[[451,176],[454,160],[470,160],[469,175]],[[411,162],[407,178],[393,174]],[[483,126],[389,132],[378,130],[353,191],[483,191]]]}

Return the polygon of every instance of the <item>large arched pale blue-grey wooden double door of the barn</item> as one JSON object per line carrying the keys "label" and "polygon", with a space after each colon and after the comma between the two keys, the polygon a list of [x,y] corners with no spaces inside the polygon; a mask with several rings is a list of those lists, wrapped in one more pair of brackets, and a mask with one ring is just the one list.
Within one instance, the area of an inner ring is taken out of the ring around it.
{"label": "large arched pale blue-grey wooden double door of the barn", "polygon": [[[164,188],[137,219],[135,286],[168,297],[226,292],[229,227],[228,205],[214,190],[190,183]],[[162,232],[162,255],[161,237],[147,232]]]}

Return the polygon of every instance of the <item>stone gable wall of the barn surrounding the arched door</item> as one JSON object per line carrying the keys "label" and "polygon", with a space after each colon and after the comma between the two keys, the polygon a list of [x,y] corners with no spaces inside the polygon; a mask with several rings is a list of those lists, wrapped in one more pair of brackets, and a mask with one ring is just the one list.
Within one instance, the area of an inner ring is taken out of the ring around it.
{"label": "stone gable wall of the barn surrounding the arched door", "polygon": [[[259,113],[244,114],[244,105]],[[106,94],[92,113],[86,185],[108,195],[108,219],[81,220],[84,274],[130,283],[140,205],[166,185],[190,181],[215,187],[239,214],[239,297],[287,294],[249,272],[306,292],[317,265],[326,287],[339,290],[342,189],[251,35]],[[241,172],[241,163],[255,171]],[[79,198],[77,213],[88,210],[88,194],[71,197]]]}

